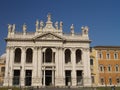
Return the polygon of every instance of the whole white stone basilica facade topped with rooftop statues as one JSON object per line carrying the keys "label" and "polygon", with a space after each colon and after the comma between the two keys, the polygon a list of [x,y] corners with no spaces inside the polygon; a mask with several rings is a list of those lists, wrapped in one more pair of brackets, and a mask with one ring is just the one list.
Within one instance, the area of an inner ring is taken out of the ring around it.
{"label": "whole white stone basilica facade topped with rooftop statues", "polygon": [[8,25],[4,86],[91,86],[88,27],[76,34],[71,25],[65,34],[50,14],[35,26],[31,33],[26,24],[22,32]]}

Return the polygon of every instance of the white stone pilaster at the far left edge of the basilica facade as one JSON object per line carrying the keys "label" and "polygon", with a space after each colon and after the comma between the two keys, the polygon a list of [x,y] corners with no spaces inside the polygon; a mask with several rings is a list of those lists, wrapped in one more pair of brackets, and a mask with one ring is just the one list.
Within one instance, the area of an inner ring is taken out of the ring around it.
{"label": "white stone pilaster at the far left edge of the basilica facade", "polygon": [[5,64],[5,77],[3,86],[9,86],[9,62],[10,62],[10,47],[6,48],[6,64]]}

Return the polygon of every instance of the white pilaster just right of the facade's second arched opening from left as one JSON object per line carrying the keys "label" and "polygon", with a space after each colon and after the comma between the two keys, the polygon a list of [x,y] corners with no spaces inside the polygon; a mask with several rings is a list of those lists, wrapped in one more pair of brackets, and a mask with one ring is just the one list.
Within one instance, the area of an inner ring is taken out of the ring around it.
{"label": "white pilaster just right of the facade's second arched opening from left", "polygon": [[37,47],[34,47],[33,50],[33,70],[32,70],[32,86],[38,86],[37,85],[37,75],[38,75],[38,62],[37,62]]}

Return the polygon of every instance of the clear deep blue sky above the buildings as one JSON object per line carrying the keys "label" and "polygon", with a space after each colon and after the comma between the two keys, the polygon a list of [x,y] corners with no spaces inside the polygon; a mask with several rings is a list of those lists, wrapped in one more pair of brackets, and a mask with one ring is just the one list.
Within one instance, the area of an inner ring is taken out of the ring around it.
{"label": "clear deep blue sky above the buildings", "polygon": [[120,46],[120,0],[0,0],[0,55],[5,52],[7,25],[16,24],[16,31],[35,31],[35,21],[46,22],[51,13],[52,21],[63,21],[63,30],[75,32],[88,26],[91,46]]}

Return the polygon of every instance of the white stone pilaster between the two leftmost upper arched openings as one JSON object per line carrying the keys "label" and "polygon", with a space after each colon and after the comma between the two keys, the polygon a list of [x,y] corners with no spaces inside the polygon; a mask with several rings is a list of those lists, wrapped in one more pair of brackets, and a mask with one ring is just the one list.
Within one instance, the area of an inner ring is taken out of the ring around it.
{"label": "white stone pilaster between the two leftmost upper arched openings", "polygon": [[26,62],[26,48],[22,48],[22,55],[21,55],[21,66],[20,66],[20,84],[21,86],[25,86],[25,62]]}

